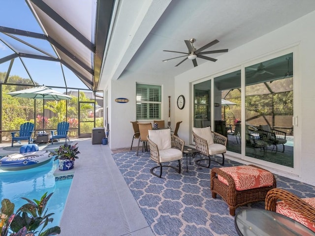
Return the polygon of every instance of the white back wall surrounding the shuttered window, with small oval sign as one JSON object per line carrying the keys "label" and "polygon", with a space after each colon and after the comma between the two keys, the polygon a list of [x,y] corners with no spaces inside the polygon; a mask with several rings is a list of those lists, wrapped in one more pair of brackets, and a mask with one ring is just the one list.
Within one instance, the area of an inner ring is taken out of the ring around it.
{"label": "white back wall surrounding the shuttered window, with small oval sign", "polygon": [[[136,83],[162,86],[162,119],[168,120],[168,96],[171,96],[171,127],[175,128],[174,78],[152,74],[125,73],[119,80],[111,82],[111,118],[109,146],[111,149],[126,148],[131,145],[133,129],[130,121],[136,120]],[[117,103],[116,98],[127,98],[127,103]],[[176,98],[177,99],[177,98]],[[153,120],[148,120],[152,122]],[[144,121],[145,122],[145,121]],[[133,142],[133,147],[138,145]],[[142,144],[142,143],[141,143]],[[140,144],[140,145],[141,145]]]}

